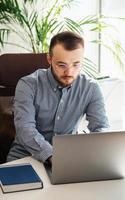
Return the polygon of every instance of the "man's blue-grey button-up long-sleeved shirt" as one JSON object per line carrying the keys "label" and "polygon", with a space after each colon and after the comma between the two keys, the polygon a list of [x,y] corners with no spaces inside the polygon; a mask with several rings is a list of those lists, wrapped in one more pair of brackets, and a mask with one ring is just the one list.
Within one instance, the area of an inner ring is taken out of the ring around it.
{"label": "man's blue-grey button-up long-sleeved shirt", "polygon": [[49,69],[39,69],[19,80],[14,100],[16,138],[8,160],[32,155],[44,162],[52,155],[55,134],[73,134],[86,114],[90,132],[108,128],[104,99],[98,83],[80,74],[62,88]]}

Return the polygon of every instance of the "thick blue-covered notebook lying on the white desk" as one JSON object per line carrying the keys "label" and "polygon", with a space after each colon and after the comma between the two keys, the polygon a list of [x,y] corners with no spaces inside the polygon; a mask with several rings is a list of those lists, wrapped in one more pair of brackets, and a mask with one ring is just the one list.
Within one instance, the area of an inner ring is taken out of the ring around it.
{"label": "thick blue-covered notebook lying on the white desk", "polygon": [[0,166],[0,185],[4,193],[43,188],[31,164]]}

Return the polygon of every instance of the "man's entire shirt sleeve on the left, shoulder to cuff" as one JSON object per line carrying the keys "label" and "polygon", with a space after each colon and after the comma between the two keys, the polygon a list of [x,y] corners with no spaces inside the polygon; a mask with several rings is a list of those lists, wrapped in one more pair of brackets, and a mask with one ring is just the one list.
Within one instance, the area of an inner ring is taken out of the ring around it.
{"label": "man's entire shirt sleeve on the left, shoulder to cuff", "polygon": [[34,158],[45,162],[52,155],[52,146],[36,129],[34,98],[36,84],[33,79],[21,79],[14,98],[16,139]]}

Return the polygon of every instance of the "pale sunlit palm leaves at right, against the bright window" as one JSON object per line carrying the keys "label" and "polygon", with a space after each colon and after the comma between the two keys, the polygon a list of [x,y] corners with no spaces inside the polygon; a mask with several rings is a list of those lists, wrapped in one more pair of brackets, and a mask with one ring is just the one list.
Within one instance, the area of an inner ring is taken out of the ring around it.
{"label": "pale sunlit palm leaves at right, against the bright window", "polygon": [[[109,23],[106,22],[108,20],[110,21]],[[114,60],[117,62],[117,65],[121,68],[121,72],[125,74],[125,63],[123,61],[123,58],[125,57],[125,50],[123,43],[119,39],[120,32],[118,27],[112,25],[115,23],[119,24],[121,22],[124,24],[125,18],[100,15],[98,24],[92,31],[101,33],[101,38],[93,40],[92,42],[106,48],[106,51],[109,51],[112,54]],[[111,32],[111,34],[109,34],[109,32]],[[117,36],[114,36],[115,34]]]}

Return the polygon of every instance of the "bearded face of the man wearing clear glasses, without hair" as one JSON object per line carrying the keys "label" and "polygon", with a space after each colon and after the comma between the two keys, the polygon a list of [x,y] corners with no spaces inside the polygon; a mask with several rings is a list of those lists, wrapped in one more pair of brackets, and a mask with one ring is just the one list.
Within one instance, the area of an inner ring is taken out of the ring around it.
{"label": "bearded face of the man wearing clear glasses, without hair", "polygon": [[61,44],[54,46],[52,55],[48,55],[48,62],[60,85],[66,87],[73,83],[81,71],[82,58],[83,47],[81,45],[75,50],[66,50]]}

